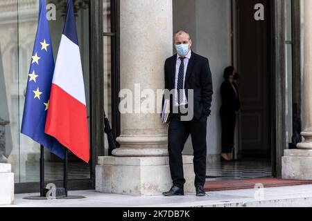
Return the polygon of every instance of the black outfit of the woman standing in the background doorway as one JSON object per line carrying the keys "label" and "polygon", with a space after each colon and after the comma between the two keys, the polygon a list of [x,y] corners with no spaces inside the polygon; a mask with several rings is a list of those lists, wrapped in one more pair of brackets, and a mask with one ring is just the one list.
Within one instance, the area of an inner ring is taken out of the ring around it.
{"label": "black outfit of the woman standing in the background doorway", "polygon": [[[234,88],[236,89],[236,92]],[[222,127],[222,153],[232,153],[234,148],[234,130],[236,123],[236,111],[241,108],[239,100],[239,90],[237,85],[228,80],[223,81],[221,85],[222,106],[220,108],[220,118]]]}

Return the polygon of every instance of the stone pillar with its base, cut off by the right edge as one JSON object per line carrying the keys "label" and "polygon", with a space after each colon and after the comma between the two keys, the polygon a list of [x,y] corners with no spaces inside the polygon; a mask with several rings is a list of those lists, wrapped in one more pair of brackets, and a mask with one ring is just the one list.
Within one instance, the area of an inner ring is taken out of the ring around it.
{"label": "stone pillar with its base, cut off by the right edge", "polygon": [[304,141],[298,149],[285,150],[282,177],[312,180],[312,1],[304,0]]}

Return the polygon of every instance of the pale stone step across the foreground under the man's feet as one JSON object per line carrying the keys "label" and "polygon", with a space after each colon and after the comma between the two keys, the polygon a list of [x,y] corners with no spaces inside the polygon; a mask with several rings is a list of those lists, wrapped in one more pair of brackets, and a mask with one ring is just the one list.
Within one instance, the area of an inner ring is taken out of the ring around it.
{"label": "pale stone step across the foreground under the man's feet", "polygon": [[206,197],[193,193],[184,196],[164,197],[133,196],[98,193],[96,191],[70,191],[69,195],[84,195],[84,200],[23,200],[31,194],[15,195],[10,206],[100,206],[100,207],[312,207],[312,185],[270,187],[208,192]]}

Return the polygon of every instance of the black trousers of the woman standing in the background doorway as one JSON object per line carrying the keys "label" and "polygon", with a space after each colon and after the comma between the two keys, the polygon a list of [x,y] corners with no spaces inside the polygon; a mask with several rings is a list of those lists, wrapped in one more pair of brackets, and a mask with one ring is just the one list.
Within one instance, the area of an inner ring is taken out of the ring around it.
{"label": "black trousers of the woman standing in the background doorway", "polygon": [[222,153],[232,153],[234,148],[235,113],[220,111]]}

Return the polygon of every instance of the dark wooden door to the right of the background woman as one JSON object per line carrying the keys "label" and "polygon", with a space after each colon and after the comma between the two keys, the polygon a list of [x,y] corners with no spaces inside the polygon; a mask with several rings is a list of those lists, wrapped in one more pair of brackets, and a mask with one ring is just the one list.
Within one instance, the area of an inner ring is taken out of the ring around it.
{"label": "dark wooden door to the right of the background woman", "polygon": [[[263,20],[257,21],[254,6],[263,6]],[[241,113],[238,119],[239,148],[236,158],[270,162],[271,1],[234,1],[234,64],[239,70]]]}

